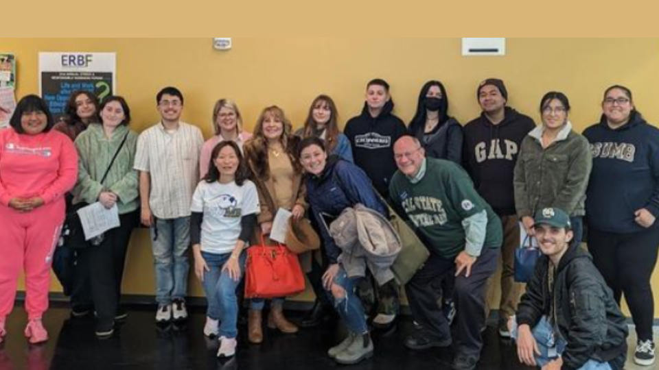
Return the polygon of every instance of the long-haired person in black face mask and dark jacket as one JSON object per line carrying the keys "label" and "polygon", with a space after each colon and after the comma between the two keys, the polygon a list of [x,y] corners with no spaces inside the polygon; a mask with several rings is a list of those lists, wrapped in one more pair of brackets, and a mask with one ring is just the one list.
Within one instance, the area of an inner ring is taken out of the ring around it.
{"label": "long-haired person in black face mask and dark jacket", "polygon": [[421,88],[408,130],[419,139],[427,156],[462,165],[462,126],[448,115],[448,95],[441,82],[428,81]]}

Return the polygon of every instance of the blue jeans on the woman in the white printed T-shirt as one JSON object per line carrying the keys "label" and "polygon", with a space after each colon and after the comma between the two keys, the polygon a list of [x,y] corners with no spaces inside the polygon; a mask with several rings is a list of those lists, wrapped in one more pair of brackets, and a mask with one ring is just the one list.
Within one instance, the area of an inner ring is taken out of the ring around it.
{"label": "blue jeans on the woman in the white printed T-shirt", "polygon": [[210,271],[204,271],[202,285],[208,300],[206,315],[214,320],[220,320],[220,336],[235,338],[238,336],[236,321],[238,321],[238,297],[235,288],[245,272],[246,253],[240,254],[238,265],[240,266],[240,279],[235,281],[229,276],[229,272],[222,271],[224,263],[229,260],[231,253],[211,254],[201,252]]}

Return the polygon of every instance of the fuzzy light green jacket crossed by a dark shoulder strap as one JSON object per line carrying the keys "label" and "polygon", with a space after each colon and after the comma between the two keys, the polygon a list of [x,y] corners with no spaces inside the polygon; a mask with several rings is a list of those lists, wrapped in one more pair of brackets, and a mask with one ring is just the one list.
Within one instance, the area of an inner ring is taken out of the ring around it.
{"label": "fuzzy light green jacket crossed by a dark shoulder strap", "polygon": [[[110,161],[119,149],[124,136],[126,143],[119,152],[104,184],[100,184]],[[133,169],[137,134],[122,125],[108,139],[100,124],[93,123],[76,138],[78,149],[78,183],[73,188],[73,204],[81,201],[94,203],[102,191],[111,191],[119,197],[119,214],[126,214],[139,207],[139,177]]]}

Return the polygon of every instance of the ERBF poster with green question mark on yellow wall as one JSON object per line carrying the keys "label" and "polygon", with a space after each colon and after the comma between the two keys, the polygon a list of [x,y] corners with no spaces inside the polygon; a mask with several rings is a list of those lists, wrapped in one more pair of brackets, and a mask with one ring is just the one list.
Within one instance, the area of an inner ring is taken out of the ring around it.
{"label": "ERBF poster with green question mark on yellow wall", "polygon": [[69,95],[91,91],[100,100],[116,90],[115,53],[39,53],[39,87],[55,121],[66,119]]}

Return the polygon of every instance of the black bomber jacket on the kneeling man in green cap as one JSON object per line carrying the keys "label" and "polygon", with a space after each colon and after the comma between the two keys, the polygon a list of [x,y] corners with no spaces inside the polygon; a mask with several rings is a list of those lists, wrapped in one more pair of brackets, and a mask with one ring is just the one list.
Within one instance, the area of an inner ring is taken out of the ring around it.
{"label": "black bomber jacket on the kneeling man in green cap", "polygon": [[[567,342],[562,369],[579,369],[588,360],[622,369],[627,356],[627,324],[613,293],[587,251],[571,246],[555,272],[553,296],[548,286],[550,262],[542,256],[517,310],[519,325],[533,328],[543,316],[557,324]],[[555,310],[551,310],[551,306]],[[550,318],[550,312],[553,312]]]}

